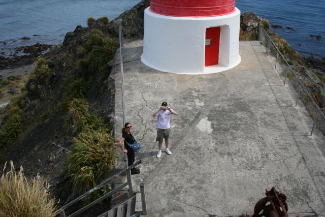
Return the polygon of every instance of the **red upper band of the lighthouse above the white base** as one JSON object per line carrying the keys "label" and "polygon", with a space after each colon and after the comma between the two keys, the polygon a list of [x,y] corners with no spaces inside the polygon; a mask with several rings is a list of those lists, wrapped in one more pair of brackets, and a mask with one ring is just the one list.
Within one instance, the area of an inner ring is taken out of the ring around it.
{"label": "red upper band of the lighthouse above the white base", "polygon": [[174,17],[209,17],[235,11],[235,0],[151,0],[150,10]]}

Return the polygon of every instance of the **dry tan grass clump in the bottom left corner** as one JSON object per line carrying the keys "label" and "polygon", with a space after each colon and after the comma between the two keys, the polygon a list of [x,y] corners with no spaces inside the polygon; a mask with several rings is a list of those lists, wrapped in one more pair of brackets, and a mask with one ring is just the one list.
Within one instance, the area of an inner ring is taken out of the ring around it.
{"label": "dry tan grass clump in the bottom left corner", "polygon": [[0,179],[0,216],[48,216],[54,217],[55,200],[50,199],[49,184],[40,176],[27,179],[22,173],[18,174],[13,162],[10,162],[10,171],[5,172]]}

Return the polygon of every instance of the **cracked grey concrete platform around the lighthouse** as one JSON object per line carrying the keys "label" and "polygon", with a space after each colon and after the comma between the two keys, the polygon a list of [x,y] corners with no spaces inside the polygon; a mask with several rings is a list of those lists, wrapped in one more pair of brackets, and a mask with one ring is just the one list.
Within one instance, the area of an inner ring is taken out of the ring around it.
{"label": "cracked grey concrete platform around the lighthouse", "polygon": [[[125,43],[122,52],[126,121],[143,144],[136,154],[141,173],[132,177],[135,187],[145,183],[148,216],[252,214],[273,186],[287,196],[290,215],[325,215],[324,140],[308,136],[311,118],[302,104],[294,106],[295,93],[283,86],[258,41],[240,42],[240,65],[207,75],[146,67],[141,40]],[[118,63],[117,57],[116,139],[122,127]],[[151,115],[164,101],[179,115],[171,118],[173,154],[157,159]]]}

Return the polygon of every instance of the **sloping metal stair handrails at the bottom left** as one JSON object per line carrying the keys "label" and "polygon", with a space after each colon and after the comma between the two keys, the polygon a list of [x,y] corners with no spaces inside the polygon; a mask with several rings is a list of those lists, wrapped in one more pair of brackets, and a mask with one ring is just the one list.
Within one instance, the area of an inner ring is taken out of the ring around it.
{"label": "sloping metal stair handrails at the bottom left", "polygon": [[[122,191],[127,185],[131,184],[132,185],[132,181],[131,179],[126,179],[126,181],[124,181],[124,177],[126,176],[127,177],[127,173],[130,174],[131,176],[131,169],[134,168],[135,166],[141,164],[141,160],[134,163],[133,165],[127,167],[125,170],[122,170],[118,173],[116,173],[115,175],[105,179],[104,181],[102,181],[102,183],[100,183],[99,185],[97,185],[96,187],[94,187],[93,189],[89,190],[88,192],[84,193],[83,195],[79,196],[78,198],[72,200],[71,202],[69,202],[68,204],[62,206],[60,208],[60,215],[62,217],[73,217],[73,216],[76,216],[76,215],[79,215],[80,213],[86,211],[87,209],[89,209],[90,207],[93,207],[94,205],[102,202],[103,200],[113,196],[115,193],[117,192],[120,192]],[[67,215],[67,209],[69,209],[70,207],[72,207],[74,204],[76,204],[77,202],[80,202],[82,201],[82,199],[86,198],[87,196],[91,195],[93,192],[99,190],[99,189],[102,189],[102,188],[105,188],[107,186],[114,186],[115,184],[118,184],[118,186],[114,189],[112,189],[112,191],[108,192],[107,194],[101,196],[100,198],[92,201],[91,203],[85,205],[84,207],[76,210],[76,211],[73,211],[73,213]],[[134,197],[134,193],[133,192],[130,192],[130,189],[128,189],[128,199],[132,199]],[[131,193],[131,194],[130,194]],[[145,202],[145,201],[144,201]]]}

